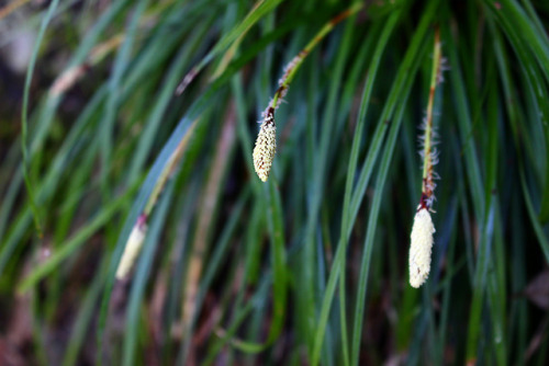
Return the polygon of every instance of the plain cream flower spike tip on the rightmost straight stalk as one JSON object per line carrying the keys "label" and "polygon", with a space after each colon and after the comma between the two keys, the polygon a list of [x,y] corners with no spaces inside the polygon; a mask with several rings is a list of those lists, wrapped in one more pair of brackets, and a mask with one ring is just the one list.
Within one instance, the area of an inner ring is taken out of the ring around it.
{"label": "plain cream flower spike tip on the rightmost straight stalk", "polygon": [[410,285],[419,287],[429,276],[430,251],[435,226],[427,208],[421,208],[414,217],[412,245],[410,247]]}

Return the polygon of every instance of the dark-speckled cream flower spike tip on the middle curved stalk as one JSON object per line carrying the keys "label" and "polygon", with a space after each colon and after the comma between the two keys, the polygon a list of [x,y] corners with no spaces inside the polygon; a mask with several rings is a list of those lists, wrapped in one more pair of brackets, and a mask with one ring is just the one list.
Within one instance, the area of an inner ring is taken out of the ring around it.
{"label": "dark-speckled cream flower spike tip on the middle curved stalk", "polygon": [[254,148],[254,168],[257,176],[264,182],[267,182],[269,178],[272,159],[274,159],[274,152],[277,151],[277,127],[274,126],[272,112],[267,112]]}

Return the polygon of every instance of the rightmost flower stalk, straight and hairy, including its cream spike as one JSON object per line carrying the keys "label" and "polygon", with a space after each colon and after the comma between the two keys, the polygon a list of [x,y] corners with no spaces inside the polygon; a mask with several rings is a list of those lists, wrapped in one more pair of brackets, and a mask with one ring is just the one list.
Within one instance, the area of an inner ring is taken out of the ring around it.
{"label": "rightmost flower stalk, straight and hairy, including its cream spike", "polygon": [[430,78],[429,100],[427,104],[427,115],[423,125],[423,174],[422,174],[422,197],[414,217],[412,227],[411,245],[410,245],[410,285],[412,287],[422,286],[430,272],[430,255],[433,249],[433,233],[435,226],[430,218],[433,201],[435,199],[435,182],[438,175],[434,171],[434,165],[437,163],[437,151],[433,148],[433,105],[435,101],[435,91],[439,82],[441,82],[441,45],[438,27],[435,30],[435,49],[433,55],[433,72]]}

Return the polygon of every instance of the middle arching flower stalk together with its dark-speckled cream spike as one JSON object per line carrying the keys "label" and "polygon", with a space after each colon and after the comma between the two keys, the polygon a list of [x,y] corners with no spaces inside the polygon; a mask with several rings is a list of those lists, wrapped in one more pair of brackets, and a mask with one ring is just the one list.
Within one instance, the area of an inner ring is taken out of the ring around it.
{"label": "middle arching flower stalk together with its dark-speckled cream spike", "polygon": [[267,182],[269,173],[272,167],[272,161],[274,159],[274,153],[277,151],[277,125],[274,123],[274,112],[282,103],[283,98],[288,93],[290,83],[295,77],[298,70],[300,69],[303,60],[309,56],[309,54],[314,49],[314,47],[343,20],[355,14],[363,4],[361,2],[355,3],[349,9],[341,12],[339,15],[333,18],[328,23],[326,23],[321,31],[309,42],[309,44],[303,48],[298,56],[295,56],[285,67],[284,73],[280,78],[278,89],[269,102],[267,108],[261,113],[262,119],[259,127],[259,133],[256,139],[256,146],[254,148],[254,169],[257,175],[262,182]]}

